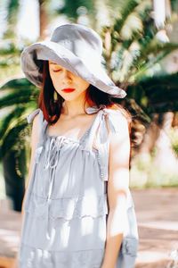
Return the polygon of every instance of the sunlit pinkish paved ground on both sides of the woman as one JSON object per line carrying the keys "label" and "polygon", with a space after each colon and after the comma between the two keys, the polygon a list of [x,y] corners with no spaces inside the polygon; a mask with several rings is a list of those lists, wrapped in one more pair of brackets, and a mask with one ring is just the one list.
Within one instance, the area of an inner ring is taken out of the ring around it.
{"label": "sunlit pinkish paved ground on both sides of the woman", "polygon": [[[177,268],[170,253],[178,249],[178,189],[132,190],[140,246],[136,268]],[[0,203],[0,268],[12,267],[20,238],[21,215]],[[178,254],[176,256],[178,258]]]}

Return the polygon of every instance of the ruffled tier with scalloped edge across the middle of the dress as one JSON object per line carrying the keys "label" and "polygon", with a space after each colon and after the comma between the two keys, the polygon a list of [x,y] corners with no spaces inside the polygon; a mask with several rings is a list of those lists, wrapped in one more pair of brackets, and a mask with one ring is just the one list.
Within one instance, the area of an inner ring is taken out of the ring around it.
{"label": "ruffled tier with scalloped edge across the middle of the dress", "polygon": [[24,209],[32,217],[41,219],[47,216],[47,209],[49,217],[53,220],[61,218],[63,221],[70,221],[73,218],[86,216],[95,218],[108,214],[107,195],[97,196],[94,200],[85,196],[47,199],[31,193]]}

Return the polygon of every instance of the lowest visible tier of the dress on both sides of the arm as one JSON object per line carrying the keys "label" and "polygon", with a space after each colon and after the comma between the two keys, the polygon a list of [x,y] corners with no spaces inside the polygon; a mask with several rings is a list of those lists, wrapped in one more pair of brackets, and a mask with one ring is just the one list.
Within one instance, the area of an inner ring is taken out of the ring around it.
{"label": "lowest visible tier of the dress on both sides of the arm", "polygon": [[[101,268],[104,249],[79,250],[72,252],[47,251],[41,248],[29,247],[21,244],[20,268],[38,268],[38,264],[44,264],[47,268],[53,268],[58,264],[60,268],[76,268],[82,264],[83,268]],[[134,259],[137,255],[138,239],[127,237],[123,241],[120,249],[120,257],[117,259],[117,267],[134,267]],[[23,262],[25,260],[25,262]],[[116,267],[116,268],[117,268]]]}

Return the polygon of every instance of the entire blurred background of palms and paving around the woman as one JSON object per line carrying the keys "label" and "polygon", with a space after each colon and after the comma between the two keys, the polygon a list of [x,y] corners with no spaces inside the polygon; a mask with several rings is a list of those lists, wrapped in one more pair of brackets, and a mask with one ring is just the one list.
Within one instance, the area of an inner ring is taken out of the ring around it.
{"label": "entire blurred background of palms and paving around the woman", "polygon": [[26,117],[39,93],[20,70],[20,53],[66,22],[101,35],[103,67],[127,93],[116,101],[133,117],[136,267],[178,267],[177,0],[1,0],[0,267],[12,267],[18,250],[30,156]]}

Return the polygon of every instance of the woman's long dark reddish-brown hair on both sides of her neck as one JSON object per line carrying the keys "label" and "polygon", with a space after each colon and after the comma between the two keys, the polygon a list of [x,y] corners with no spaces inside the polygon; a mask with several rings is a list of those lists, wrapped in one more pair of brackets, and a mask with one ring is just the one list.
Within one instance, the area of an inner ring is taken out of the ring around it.
{"label": "woman's long dark reddish-brown hair on both sides of her neck", "polygon": [[[54,99],[54,92],[57,96],[57,99]],[[39,94],[38,106],[43,111],[44,119],[48,121],[49,124],[54,124],[60,118],[63,101],[64,98],[58,94],[53,87],[48,61],[43,61],[43,86]],[[106,105],[107,108],[120,110],[128,121],[129,132],[131,131],[131,113],[129,113],[128,110],[122,105],[115,103],[112,99],[112,96],[108,93],[105,93],[90,84],[90,86],[86,89],[85,103],[86,102],[89,105],[96,105],[97,107],[100,105]]]}

